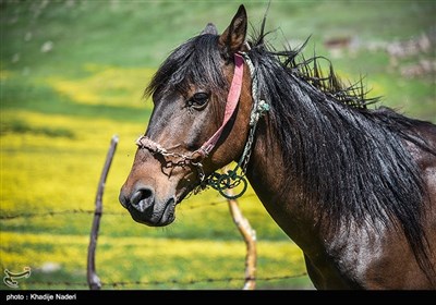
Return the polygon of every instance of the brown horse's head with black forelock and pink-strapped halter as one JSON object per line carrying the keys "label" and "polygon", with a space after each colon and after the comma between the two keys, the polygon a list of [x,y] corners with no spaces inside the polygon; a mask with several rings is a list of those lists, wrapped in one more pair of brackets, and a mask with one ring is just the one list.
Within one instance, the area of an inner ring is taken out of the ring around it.
{"label": "brown horse's head with black forelock and pink-strapped halter", "polygon": [[242,155],[252,107],[251,77],[239,54],[246,27],[241,5],[221,35],[208,24],[156,72],[146,89],[153,113],[119,196],[135,221],[170,224],[187,194]]}

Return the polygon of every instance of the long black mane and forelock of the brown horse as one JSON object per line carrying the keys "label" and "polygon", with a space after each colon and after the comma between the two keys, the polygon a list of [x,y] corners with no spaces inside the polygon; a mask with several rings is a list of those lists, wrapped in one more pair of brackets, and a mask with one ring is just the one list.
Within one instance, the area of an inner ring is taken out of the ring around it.
{"label": "long black mane and forelock of the brown horse", "polygon": [[[425,122],[386,107],[368,109],[378,99],[367,97],[361,81],[344,86],[331,64],[324,73],[324,58],[305,59],[302,47],[275,50],[265,42],[264,24],[247,53],[259,94],[270,105],[269,132],[281,145],[289,176],[302,185],[303,199],[318,203],[325,215],[320,221],[334,229],[352,220],[402,230],[420,266],[432,270],[421,224],[425,187],[405,148],[410,142],[436,154],[411,129]],[[217,40],[217,35],[202,34],[178,47],[145,93],[183,93],[190,83],[228,89]]]}

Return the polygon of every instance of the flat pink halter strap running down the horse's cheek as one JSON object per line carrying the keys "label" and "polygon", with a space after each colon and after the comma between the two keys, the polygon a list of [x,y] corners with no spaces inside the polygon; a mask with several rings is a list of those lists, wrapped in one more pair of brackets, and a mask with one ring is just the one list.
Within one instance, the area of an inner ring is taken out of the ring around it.
{"label": "flat pink halter strap running down the horse's cheek", "polygon": [[215,134],[205,144],[203,144],[201,148],[196,150],[197,152],[202,154],[203,157],[208,156],[210,151],[214,149],[219,137],[221,136],[223,129],[226,127],[230,118],[233,115],[234,110],[237,109],[238,101],[241,96],[243,74],[244,74],[244,58],[239,53],[234,53],[234,74],[230,86],[229,95],[227,96],[225,119],[222,121],[221,126],[215,132]]}

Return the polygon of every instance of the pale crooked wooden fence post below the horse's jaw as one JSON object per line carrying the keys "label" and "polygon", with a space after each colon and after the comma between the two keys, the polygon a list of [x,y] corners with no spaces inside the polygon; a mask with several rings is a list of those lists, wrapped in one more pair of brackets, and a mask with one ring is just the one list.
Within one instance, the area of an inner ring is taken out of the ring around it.
{"label": "pale crooked wooden fence post below the horse's jaw", "polygon": [[[232,190],[227,191],[232,195]],[[228,199],[230,213],[237,224],[246,245],[245,256],[245,284],[243,290],[254,290],[256,288],[256,231],[252,229],[249,220],[242,215],[235,199]]]}

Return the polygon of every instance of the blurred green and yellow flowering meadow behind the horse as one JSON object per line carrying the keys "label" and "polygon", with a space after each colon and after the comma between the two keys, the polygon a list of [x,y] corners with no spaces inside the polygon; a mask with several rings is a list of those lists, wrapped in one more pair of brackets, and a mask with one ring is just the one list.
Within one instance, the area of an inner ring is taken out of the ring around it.
{"label": "blurred green and yellow flowering meadow behind the horse", "polygon": [[[104,194],[96,266],[102,289],[241,289],[245,244],[227,202],[208,190],[166,228],[134,222],[118,193],[152,103],[159,64],[238,7],[259,28],[268,1],[0,1],[2,272],[32,269],[19,289],[88,289],[86,257],[100,172],[119,136]],[[435,1],[271,1],[269,42],[330,59],[350,82],[407,115],[436,122]],[[252,32],[253,33],[253,32]],[[250,190],[239,199],[257,235],[256,289],[313,289],[301,251]],[[3,282],[1,289],[10,289]]]}

